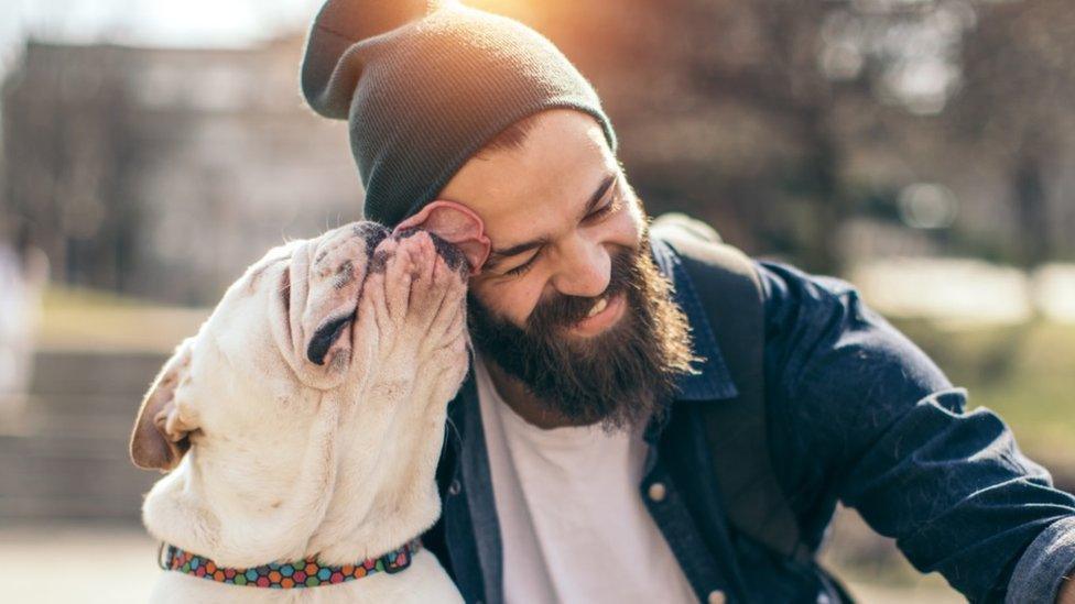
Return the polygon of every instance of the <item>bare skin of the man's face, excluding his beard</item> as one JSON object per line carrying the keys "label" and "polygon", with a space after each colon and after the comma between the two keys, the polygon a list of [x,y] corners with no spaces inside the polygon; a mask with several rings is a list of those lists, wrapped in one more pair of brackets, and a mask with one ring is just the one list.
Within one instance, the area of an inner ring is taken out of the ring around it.
{"label": "bare skin of the man's face, excluding his beard", "polygon": [[[610,254],[637,250],[644,227],[600,127],[577,111],[540,114],[520,149],[478,154],[441,197],[485,221],[492,252],[470,290],[519,327],[545,296],[600,296]],[[599,333],[616,318],[571,336]]]}

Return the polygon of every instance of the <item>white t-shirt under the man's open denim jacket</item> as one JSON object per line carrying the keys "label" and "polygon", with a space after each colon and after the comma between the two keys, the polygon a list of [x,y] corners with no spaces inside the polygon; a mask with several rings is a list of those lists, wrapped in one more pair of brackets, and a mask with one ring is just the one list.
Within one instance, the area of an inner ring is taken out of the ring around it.
{"label": "white t-shirt under the man's open denim jacket", "polygon": [[543,430],[475,366],[508,604],[697,602],[639,493],[641,430]]}

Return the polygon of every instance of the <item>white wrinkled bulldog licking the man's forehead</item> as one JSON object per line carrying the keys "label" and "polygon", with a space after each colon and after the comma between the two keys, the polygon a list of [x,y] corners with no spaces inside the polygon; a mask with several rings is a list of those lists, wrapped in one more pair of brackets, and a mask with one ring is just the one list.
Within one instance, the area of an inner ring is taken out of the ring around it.
{"label": "white wrinkled bulldog licking the man's forehead", "polygon": [[441,509],[465,260],[408,234],[270,251],[165,363],[131,437],[135,464],[171,471],[142,509],[173,568],[154,602],[462,601],[409,543]]}

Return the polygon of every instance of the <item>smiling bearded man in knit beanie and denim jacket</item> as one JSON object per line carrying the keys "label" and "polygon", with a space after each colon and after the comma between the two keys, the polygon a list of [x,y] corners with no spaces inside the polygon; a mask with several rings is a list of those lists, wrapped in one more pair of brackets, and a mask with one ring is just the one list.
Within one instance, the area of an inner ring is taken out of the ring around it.
{"label": "smiling bearded man in knit beanie and denim jacket", "polygon": [[[348,120],[367,218],[471,261],[477,354],[424,538],[468,601],[836,602],[811,554],[841,501],[974,601],[1075,602],[1075,498],[847,284],[749,263],[762,366],[732,380],[741,351],[715,333],[738,318],[715,330],[699,295],[728,271],[649,237],[596,94],[535,32],[329,0],[303,91]],[[791,510],[793,551],[729,521],[714,469],[753,460],[702,428],[762,380],[761,503]]]}

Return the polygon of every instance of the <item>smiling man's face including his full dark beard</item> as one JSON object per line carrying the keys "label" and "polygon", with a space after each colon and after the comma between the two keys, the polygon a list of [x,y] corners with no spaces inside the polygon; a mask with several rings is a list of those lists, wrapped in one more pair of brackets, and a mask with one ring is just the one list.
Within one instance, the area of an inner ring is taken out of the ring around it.
{"label": "smiling man's face including his full dark beard", "polygon": [[441,195],[478,213],[492,242],[470,279],[475,345],[573,422],[634,424],[686,371],[686,320],[597,122],[555,110],[531,125]]}

